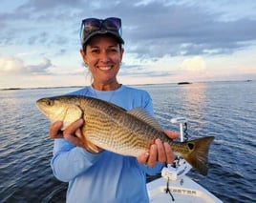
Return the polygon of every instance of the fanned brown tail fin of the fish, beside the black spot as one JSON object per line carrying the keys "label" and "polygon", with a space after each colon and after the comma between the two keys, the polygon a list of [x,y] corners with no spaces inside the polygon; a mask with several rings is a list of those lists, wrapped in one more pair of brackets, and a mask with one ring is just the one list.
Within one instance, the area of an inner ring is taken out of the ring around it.
{"label": "fanned brown tail fin of the fish, beside the black spot", "polygon": [[185,142],[189,152],[183,158],[203,175],[208,173],[208,152],[214,136],[207,136]]}

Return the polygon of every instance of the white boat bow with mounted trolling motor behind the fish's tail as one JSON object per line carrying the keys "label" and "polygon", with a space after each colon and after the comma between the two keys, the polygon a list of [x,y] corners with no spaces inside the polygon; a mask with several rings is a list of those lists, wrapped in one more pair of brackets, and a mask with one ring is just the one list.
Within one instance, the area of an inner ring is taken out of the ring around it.
{"label": "white boat bow with mounted trolling motor behind the fish's tail", "polygon": [[[181,142],[188,139],[187,121],[184,117],[173,118],[180,124]],[[161,176],[147,183],[150,202],[165,203],[222,203],[223,201],[186,175],[191,166],[181,157],[161,170]]]}

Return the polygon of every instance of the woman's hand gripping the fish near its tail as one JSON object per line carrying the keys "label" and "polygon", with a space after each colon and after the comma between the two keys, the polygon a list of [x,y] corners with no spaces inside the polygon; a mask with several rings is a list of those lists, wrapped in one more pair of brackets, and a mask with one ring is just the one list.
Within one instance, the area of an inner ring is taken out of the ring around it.
{"label": "woman's hand gripping the fish near its tail", "polygon": [[[177,132],[165,132],[166,136],[175,139],[179,136]],[[149,167],[154,167],[157,162],[171,164],[174,161],[175,155],[172,152],[171,146],[168,143],[162,143],[158,138],[151,145],[149,152],[145,152],[138,157],[140,164],[146,164]]]}

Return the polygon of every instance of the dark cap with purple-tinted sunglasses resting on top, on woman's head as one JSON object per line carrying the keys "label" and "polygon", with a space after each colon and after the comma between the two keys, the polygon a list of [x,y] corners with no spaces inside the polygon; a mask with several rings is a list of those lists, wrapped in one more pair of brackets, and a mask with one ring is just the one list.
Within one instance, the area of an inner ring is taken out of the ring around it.
{"label": "dark cap with purple-tinted sunglasses resting on top, on woman's head", "polygon": [[124,44],[121,38],[121,19],[117,17],[109,17],[106,19],[97,18],[86,18],[82,20],[80,29],[80,39],[82,47],[84,48],[86,43],[91,39],[91,37],[96,34],[112,34],[114,35],[118,42]]}

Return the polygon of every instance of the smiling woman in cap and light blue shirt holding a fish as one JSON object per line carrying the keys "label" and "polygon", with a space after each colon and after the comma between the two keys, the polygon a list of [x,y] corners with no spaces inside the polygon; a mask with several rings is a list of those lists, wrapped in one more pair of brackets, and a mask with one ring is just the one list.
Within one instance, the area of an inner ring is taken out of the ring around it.
{"label": "smiling woman in cap and light blue shirt holding a fish", "polygon": [[[92,72],[93,82],[72,94],[96,97],[126,110],[144,108],[153,115],[148,92],[129,88],[117,81],[124,51],[120,31],[118,18],[82,21],[80,52]],[[145,173],[159,173],[163,163],[173,162],[170,146],[157,139],[149,152],[137,158],[96,146],[85,149],[82,141],[74,135],[76,131],[80,132],[84,122],[86,120],[79,119],[64,132],[60,132],[62,123],[55,122],[50,129],[50,137],[61,138],[54,140],[51,166],[59,180],[69,182],[67,202],[148,202]],[[166,134],[177,137],[175,132]]]}

